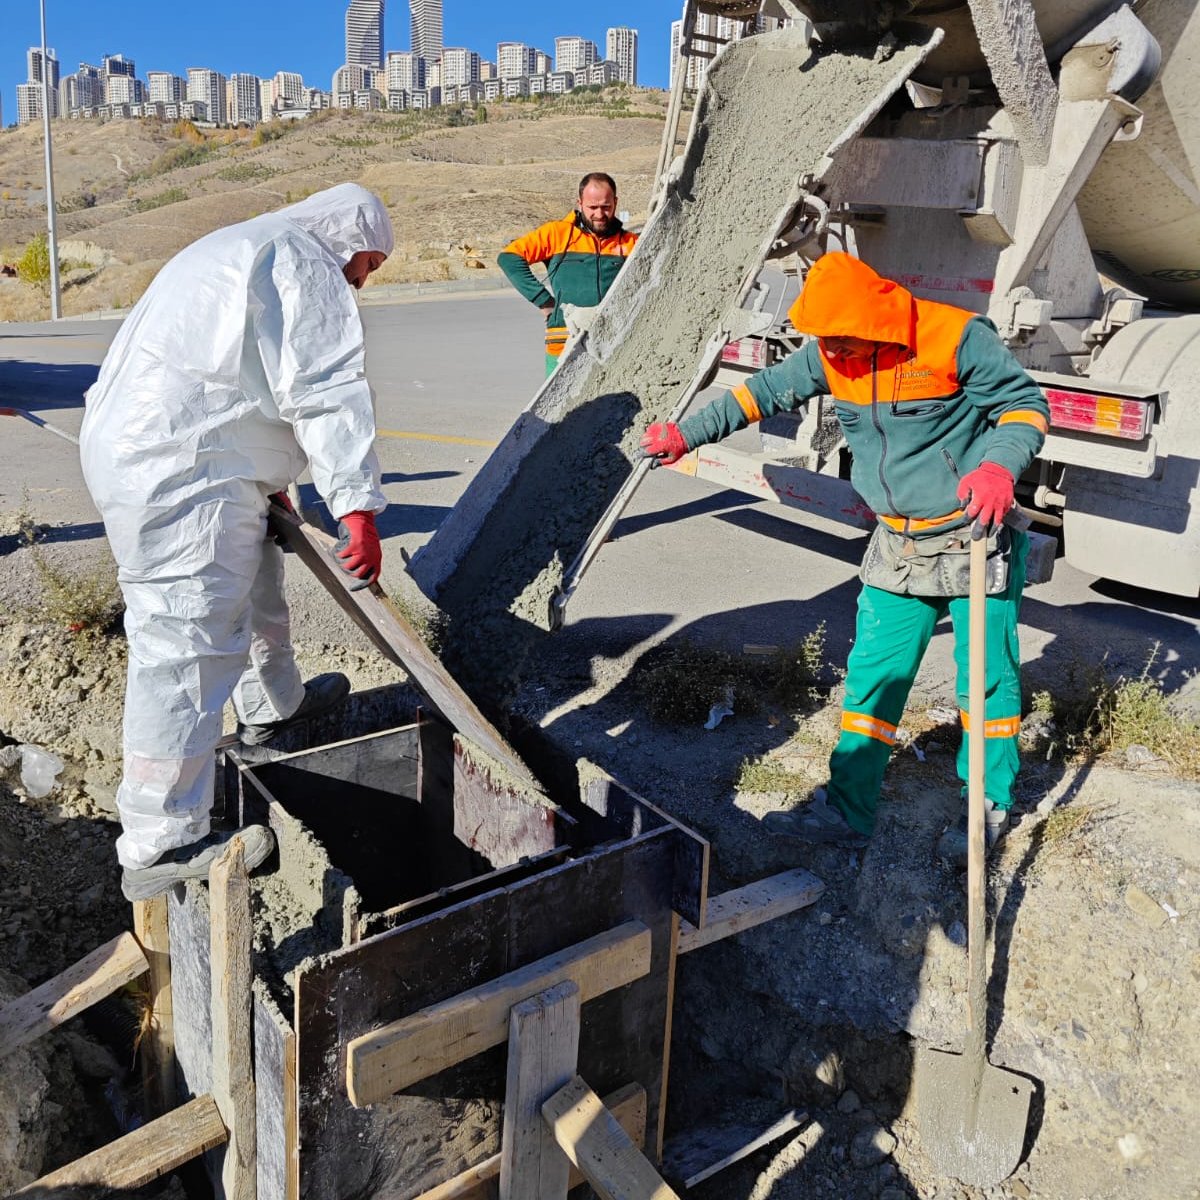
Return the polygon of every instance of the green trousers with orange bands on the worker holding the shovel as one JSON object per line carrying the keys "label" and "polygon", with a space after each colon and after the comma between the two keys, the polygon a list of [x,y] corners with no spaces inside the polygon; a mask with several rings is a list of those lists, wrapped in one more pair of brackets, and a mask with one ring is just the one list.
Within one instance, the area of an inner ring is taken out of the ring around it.
{"label": "green trousers with orange bands on the worker holding the shovel", "polygon": [[[988,688],[985,794],[997,809],[1013,805],[1021,718],[1020,648],[1016,622],[1025,590],[1028,539],[1013,530],[1008,587],[988,596]],[[895,744],[917,668],[934,626],[947,613],[954,625],[956,691],[967,725],[968,617],[966,596],[896,595],[864,586],[858,596],[854,646],[846,664],[841,736],[829,760],[829,799],[858,833],[875,830],[883,770]],[[958,756],[959,779],[967,780],[967,738]]]}

